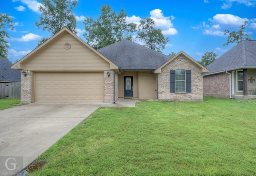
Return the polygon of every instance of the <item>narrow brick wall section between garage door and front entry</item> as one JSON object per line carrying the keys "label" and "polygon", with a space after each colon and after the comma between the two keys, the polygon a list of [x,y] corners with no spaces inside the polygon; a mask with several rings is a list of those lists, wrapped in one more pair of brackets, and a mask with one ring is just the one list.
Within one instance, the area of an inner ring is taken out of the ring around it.
{"label": "narrow brick wall section between garage door and front entry", "polygon": [[[108,77],[107,73],[110,73]],[[118,83],[118,79],[116,79]],[[118,89],[118,86],[116,87]],[[118,96],[118,93],[117,93]],[[113,103],[114,102],[114,72],[112,70],[104,71],[104,103]]]}

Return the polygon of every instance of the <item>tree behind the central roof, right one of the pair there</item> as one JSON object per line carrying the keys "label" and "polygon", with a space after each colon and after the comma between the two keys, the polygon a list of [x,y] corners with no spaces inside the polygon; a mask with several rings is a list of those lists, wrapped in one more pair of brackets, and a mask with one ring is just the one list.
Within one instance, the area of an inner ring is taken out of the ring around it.
{"label": "tree behind the central roof, right one of the pair there", "polygon": [[144,42],[146,47],[161,52],[164,49],[169,38],[165,38],[162,30],[155,27],[152,18],[143,18],[138,26],[138,36],[140,41]]}

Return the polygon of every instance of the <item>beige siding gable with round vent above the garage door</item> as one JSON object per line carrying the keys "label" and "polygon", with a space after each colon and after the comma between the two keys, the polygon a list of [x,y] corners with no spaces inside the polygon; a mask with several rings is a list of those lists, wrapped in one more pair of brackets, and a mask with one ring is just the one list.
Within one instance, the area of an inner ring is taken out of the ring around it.
{"label": "beige siding gable with round vent above the garage door", "polygon": [[33,71],[104,71],[110,67],[110,63],[69,33],[24,63],[24,69]]}

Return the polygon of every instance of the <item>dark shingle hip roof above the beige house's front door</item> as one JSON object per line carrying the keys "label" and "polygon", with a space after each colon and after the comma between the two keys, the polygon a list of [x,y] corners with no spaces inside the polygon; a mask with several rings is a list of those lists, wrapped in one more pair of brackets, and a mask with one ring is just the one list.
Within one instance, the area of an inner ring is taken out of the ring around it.
{"label": "dark shingle hip roof above the beige house's front door", "polygon": [[130,40],[122,40],[97,51],[126,70],[154,70],[171,58]]}

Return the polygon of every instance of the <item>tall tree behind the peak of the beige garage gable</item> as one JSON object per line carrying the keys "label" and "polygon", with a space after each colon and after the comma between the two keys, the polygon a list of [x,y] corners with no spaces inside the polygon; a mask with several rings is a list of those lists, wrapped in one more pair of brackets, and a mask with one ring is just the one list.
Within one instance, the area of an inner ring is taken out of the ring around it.
{"label": "tall tree behind the peak of the beige garage gable", "polygon": [[[43,31],[47,30],[52,35],[59,32],[62,28],[67,27],[76,34],[76,18],[72,10],[77,5],[78,0],[41,0],[43,6],[39,6],[42,14],[39,16],[40,22],[36,26]],[[38,41],[38,46],[48,38],[42,38]]]}

